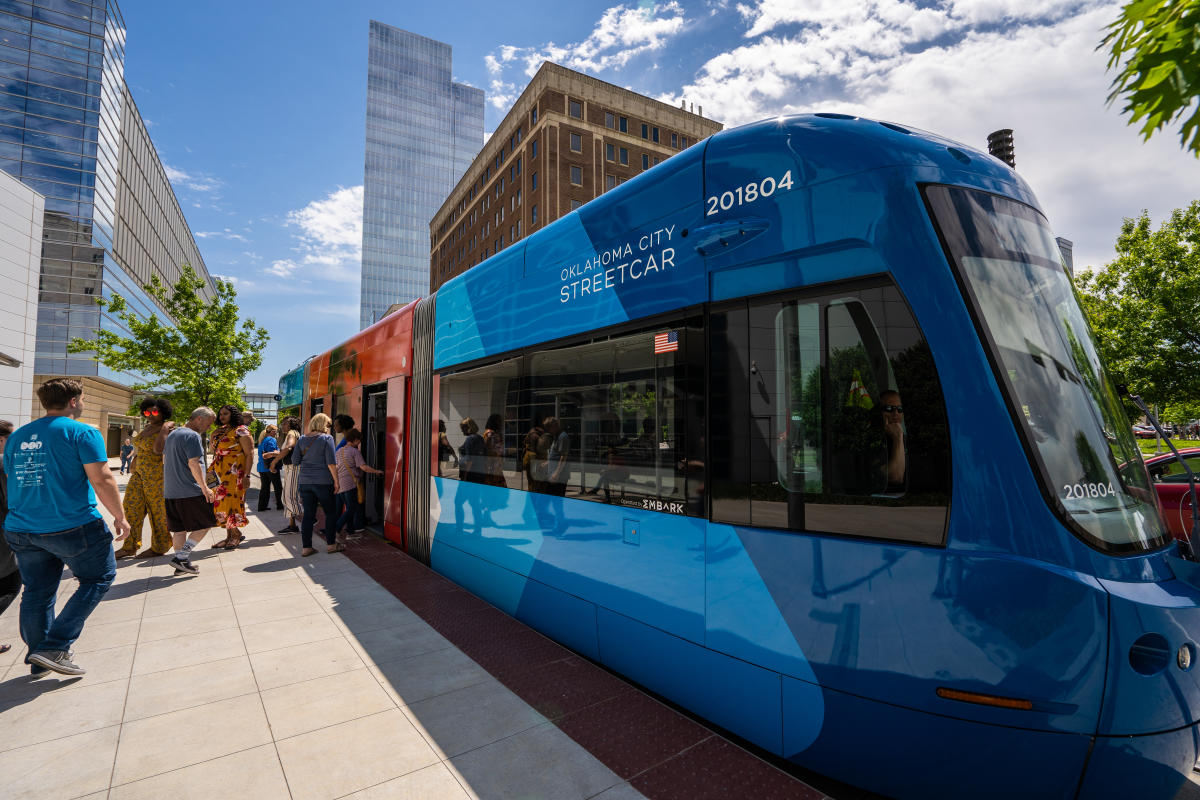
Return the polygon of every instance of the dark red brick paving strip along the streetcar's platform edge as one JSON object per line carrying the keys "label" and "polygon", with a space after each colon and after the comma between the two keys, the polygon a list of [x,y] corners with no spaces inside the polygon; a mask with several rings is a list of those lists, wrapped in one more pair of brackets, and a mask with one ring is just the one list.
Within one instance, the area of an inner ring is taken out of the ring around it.
{"label": "dark red brick paving strip along the streetcar's platform edge", "polygon": [[824,798],[396,547],[366,536],[346,554],[446,640],[650,800]]}

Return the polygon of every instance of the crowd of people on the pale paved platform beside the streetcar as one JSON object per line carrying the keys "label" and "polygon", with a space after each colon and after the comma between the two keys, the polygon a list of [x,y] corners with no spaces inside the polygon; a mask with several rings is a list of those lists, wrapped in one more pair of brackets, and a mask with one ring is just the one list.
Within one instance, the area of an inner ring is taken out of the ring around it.
{"label": "crowd of people on the pale paved platform beside the streetcar", "polygon": [[[197,576],[192,554],[214,528],[224,534],[215,548],[238,549],[246,539],[251,470],[260,480],[258,510],[270,507],[274,491],[275,507],[288,521],[278,533],[299,533],[302,557],[317,553],[318,507],[328,553],[344,551],[348,535],[365,528],[361,481],[379,470],[365,463],[362,435],[349,416],[317,414],[307,433],[299,419],[287,417],[265,426],[256,443],[250,411],[200,407],[178,425],[169,399],[146,397],[142,431],[120,449],[119,473],[130,475],[122,498],[103,437],[79,421],[83,384],[54,378],[37,397],[41,419],[16,429],[0,420],[0,614],[24,589],[19,628],[35,678],[86,672],[71,648],[115,579],[118,559],[170,555],[176,577]],[[337,444],[331,428],[341,434]],[[112,516],[112,530],[97,505]],[[65,569],[79,585],[55,613]],[[0,643],[0,652],[11,648]]]}

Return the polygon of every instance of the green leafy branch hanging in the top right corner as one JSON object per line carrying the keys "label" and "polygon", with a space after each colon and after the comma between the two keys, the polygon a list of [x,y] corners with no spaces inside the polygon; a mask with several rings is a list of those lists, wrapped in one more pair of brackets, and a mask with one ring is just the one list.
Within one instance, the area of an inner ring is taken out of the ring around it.
{"label": "green leafy branch hanging in the top right corner", "polygon": [[1200,156],[1200,0],[1133,0],[1108,31],[1100,47],[1117,70],[1109,103],[1124,96],[1122,112],[1145,120],[1145,139],[1183,120],[1180,144]]}

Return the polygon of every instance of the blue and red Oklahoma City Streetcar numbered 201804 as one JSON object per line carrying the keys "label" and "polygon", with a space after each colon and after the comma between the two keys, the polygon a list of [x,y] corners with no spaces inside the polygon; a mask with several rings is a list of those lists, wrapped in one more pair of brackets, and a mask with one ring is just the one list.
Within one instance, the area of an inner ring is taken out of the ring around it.
{"label": "blue and red Oklahoma City Streetcar numbered 201804", "polygon": [[770,753],[895,798],[1196,762],[1196,565],[991,156],[727,130],[306,369],[391,541]]}

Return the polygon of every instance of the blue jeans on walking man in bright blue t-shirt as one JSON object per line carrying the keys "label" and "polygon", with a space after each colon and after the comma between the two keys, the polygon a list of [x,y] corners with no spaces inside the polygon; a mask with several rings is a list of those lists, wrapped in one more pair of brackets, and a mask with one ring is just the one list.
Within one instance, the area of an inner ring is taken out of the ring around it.
{"label": "blue jeans on walking man in bright blue t-shirt", "polygon": [[[17,554],[25,594],[20,599],[20,638],[30,652],[70,650],[83,632],[88,615],[100,603],[116,577],[113,535],[103,521],[54,534],[19,534],[5,530]],[[79,581],[79,588],[54,615],[54,600],[62,566]]]}

